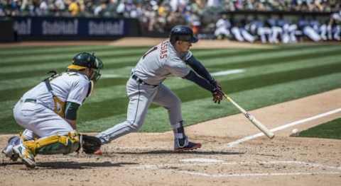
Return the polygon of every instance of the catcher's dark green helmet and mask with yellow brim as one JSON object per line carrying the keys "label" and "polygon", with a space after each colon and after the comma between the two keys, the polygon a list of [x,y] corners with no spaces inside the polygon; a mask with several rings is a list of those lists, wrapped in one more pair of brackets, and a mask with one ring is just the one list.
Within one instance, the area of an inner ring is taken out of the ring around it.
{"label": "catcher's dark green helmet and mask with yellow brim", "polygon": [[76,54],[72,59],[72,64],[67,66],[67,69],[73,69],[77,71],[84,70],[86,68],[92,69],[90,79],[93,81],[98,81],[102,75],[103,62],[99,57],[94,56],[94,53],[81,52]]}

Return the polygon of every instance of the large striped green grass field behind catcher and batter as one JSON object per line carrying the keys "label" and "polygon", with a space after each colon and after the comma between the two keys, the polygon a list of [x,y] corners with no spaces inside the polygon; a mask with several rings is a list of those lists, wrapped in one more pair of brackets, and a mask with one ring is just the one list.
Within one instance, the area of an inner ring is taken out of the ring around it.
{"label": "large striped green grass field behind catcher and batter", "polygon": [[[64,71],[77,52],[96,52],[104,78],[78,114],[81,132],[99,132],[126,118],[125,83],[131,68],[148,47],[68,46],[0,49],[0,133],[21,130],[11,108],[23,93],[45,79],[51,69]],[[216,76],[224,91],[246,110],[273,105],[341,87],[340,45],[285,45],[273,49],[193,50],[210,72],[240,69]],[[115,75],[115,76],[114,76]],[[186,125],[237,113],[231,104],[216,105],[211,94],[190,81],[164,82],[183,101]],[[142,132],[171,129],[163,107],[152,105]]]}

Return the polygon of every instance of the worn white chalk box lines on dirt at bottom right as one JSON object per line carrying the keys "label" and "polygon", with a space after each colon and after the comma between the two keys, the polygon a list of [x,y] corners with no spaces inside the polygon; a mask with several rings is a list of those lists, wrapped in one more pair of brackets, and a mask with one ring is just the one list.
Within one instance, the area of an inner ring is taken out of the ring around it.
{"label": "worn white chalk box lines on dirt at bottom right", "polygon": [[[200,173],[198,171],[188,170],[176,170],[175,168],[186,167],[186,166],[207,166],[207,165],[279,165],[279,164],[295,164],[300,166],[308,166],[314,168],[321,168],[323,171],[316,172],[291,172],[291,173],[228,173],[228,174],[210,174]],[[330,165],[322,165],[319,163],[308,163],[303,161],[256,161],[256,162],[223,162],[216,161],[210,163],[173,163],[173,164],[156,164],[156,165],[139,165],[131,167],[133,169],[142,170],[166,170],[172,171],[173,173],[205,176],[211,178],[231,178],[231,177],[260,177],[260,176],[280,176],[280,175],[341,175],[341,167],[335,167]]]}

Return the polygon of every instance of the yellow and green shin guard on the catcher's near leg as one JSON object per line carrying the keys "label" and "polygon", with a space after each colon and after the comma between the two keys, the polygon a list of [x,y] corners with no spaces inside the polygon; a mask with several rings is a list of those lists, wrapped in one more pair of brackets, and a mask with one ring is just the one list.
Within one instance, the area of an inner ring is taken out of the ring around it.
{"label": "yellow and green shin guard on the catcher's near leg", "polygon": [[69,132],[67,136],[48,136],[37,140],[23,141],[23,144],[36,154],[72,153],[80,149],[80,134]]}

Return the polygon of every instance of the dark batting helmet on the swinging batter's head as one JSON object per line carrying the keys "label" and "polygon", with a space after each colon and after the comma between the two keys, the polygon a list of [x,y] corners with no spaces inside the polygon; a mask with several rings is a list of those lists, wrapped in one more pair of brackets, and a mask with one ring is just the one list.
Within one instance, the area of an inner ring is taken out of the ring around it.
{"label": "dark batting helmet on the swinging batter's head", "polygon": [[193,35],[193,30],[186,25],[176,25],[173,27],[169,37],[172,43],[177,40],[197,42],[197,37]]}

